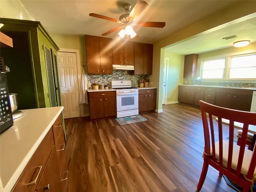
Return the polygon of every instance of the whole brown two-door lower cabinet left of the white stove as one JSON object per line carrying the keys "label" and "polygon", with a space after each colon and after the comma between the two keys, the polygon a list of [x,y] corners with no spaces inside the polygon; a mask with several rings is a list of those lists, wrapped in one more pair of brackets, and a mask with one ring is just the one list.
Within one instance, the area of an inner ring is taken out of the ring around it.
{"label": "whole brown two-door lower cabinet left of the white stove", "polygon": [[116,91],[89,92],[90,118],[116,116]]}

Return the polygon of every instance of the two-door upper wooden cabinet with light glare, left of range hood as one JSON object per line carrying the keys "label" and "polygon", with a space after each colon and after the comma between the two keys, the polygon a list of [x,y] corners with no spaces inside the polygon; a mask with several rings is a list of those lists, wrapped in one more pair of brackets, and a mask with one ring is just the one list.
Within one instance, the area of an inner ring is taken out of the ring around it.
{"label": "two-door upper wooden cabinet with light glare, left of range hood", "polygon": [[110,38],[85,36],[88,74],[113,74]]}

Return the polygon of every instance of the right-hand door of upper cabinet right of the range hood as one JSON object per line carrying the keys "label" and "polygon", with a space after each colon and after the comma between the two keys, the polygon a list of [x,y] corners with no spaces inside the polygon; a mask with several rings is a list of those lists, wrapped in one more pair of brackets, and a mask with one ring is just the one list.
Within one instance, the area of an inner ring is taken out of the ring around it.
{"label": "right-hand door of upper cabinet right of the range hood", "polygon": [[153,45],[144,44],[144,74],[152,74],[152,64],[153,64]]}

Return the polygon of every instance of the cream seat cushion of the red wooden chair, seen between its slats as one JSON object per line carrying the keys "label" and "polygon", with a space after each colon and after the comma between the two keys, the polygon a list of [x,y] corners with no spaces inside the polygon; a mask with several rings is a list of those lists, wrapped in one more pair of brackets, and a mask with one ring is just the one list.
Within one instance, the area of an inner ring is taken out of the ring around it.
{"label": "cream seat cushion of the red wooden chair, seen between its slats", "polygon": [[[215,151],[216,159],[218,160],[218,158],[219,158],[219,142],[215,143],[215,150],[216,150]],[[240,146],[234,144],[233,145],[232,166],[231,166],[234,170],[236,170],[236,167],[237,167],[239,150],[240,150]],[[212,150],[211,150],[211,154],[212,154]],[[252,151],[245,149],[243,163],[242,163],[242,169],[241,169],[241,173],[244,175],[247,175],[247,173],[248,173],[248,168],[250,166],[251,157],[252,157]],[[223,164],[224,165],[228,164],[228,141],[223,141]],[[256,169],[254,170],[253,178],[256,178]]]}

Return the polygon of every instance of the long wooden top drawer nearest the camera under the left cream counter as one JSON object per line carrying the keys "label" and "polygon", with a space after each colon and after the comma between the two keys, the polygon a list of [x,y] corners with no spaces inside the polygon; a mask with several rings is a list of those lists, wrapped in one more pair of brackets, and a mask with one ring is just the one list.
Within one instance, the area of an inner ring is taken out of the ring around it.
{"label": "long wooden top drawer nearest the camera under the left cream counter", "polygon": [[48,131],[36,152],[23,170],[12,192],[34,192],[54,146],[52,128]]}

